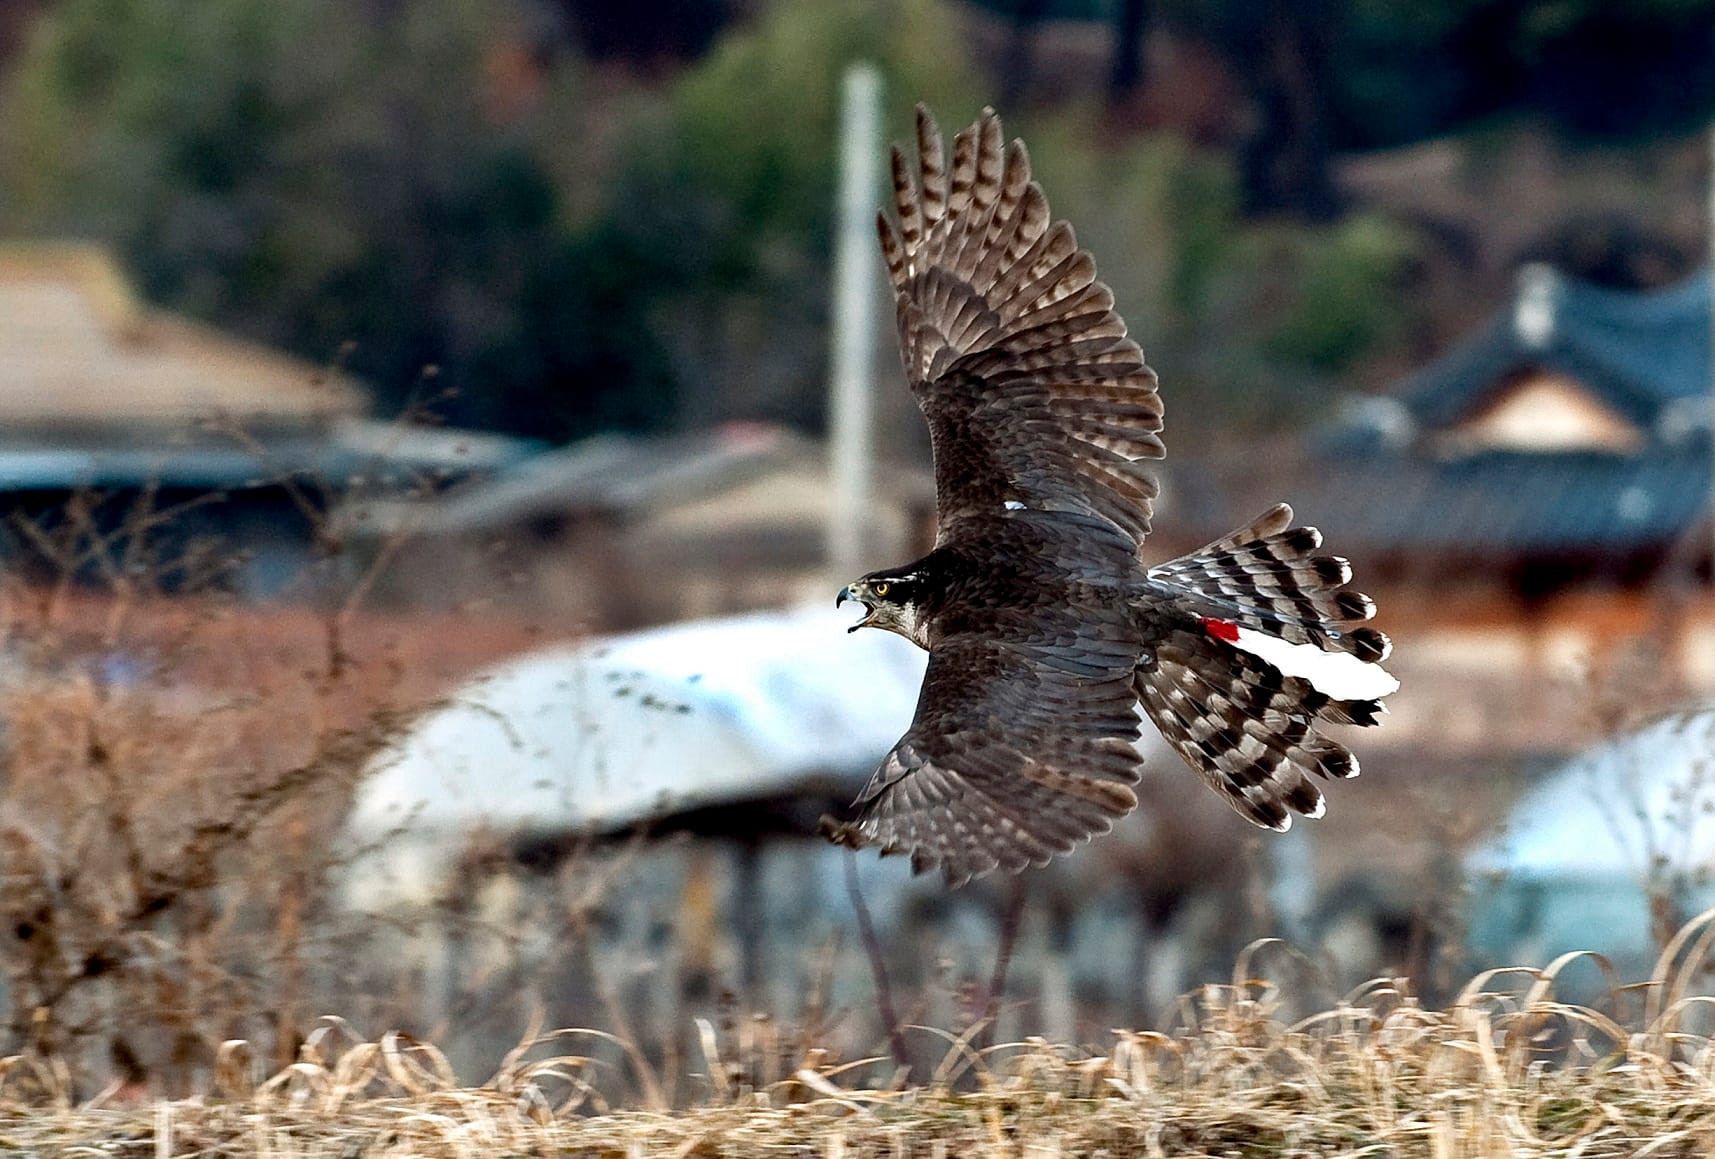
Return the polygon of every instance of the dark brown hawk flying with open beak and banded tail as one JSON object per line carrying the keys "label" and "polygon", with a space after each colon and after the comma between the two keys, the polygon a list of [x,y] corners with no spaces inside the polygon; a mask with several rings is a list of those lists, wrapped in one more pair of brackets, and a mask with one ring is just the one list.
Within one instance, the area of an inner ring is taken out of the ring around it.
{"label": "dark brown hawk flying with open beak and banded tail", "polygon": [[1135,808],[1139,706],[1247,820],[1321,816],[1317,782],[1358,761],[1319,727],[1372,725],[1384,708],[1281,658],[1343,653],[1393,691],[1387,638],[1363,626],[1375,604],[1286,504],[1144,564],[1161,398],[1113,293],[993,110],[948,163],[919,106],[914,154],[894,149],[897,223],[882,213],[880,233],[938,530],[928,555],[854,580],[837,604],[864,605],[851,631],[899,633],[930,664],[856,816],[823,833],[950,885],[1046,864]]}

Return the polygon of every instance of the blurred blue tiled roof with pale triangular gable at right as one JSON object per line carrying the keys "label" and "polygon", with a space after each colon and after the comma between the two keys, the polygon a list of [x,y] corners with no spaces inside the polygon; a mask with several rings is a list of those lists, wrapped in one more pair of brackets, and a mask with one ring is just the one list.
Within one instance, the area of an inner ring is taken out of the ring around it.
{"label": "blurred blue tiled roof with pale triangular gable at right", "polygon": [[1324,437],[1339,466],[1302,513],[1396,561],[1640,580],[1681,542],[1705,557],[1710,298],[1708,271],[1631,293],[1525,267],[1502,314]]}

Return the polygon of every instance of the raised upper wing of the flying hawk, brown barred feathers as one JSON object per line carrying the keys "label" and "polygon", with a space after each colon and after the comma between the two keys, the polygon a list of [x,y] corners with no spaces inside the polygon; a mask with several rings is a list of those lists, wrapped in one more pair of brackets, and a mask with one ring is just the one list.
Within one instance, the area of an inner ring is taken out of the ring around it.
{"label": "raised upper wing of the flying hawk, brown barred feathers", "polygon": [[1104,516],[1149,533],[1163,454],[1156,375],[1113,293],[1002,147],[993,110],[954,137],[918,106],[916,178],[894,149],[895,226],[880,218],[906,375],[935,447],[940,542],[1007,504]]}

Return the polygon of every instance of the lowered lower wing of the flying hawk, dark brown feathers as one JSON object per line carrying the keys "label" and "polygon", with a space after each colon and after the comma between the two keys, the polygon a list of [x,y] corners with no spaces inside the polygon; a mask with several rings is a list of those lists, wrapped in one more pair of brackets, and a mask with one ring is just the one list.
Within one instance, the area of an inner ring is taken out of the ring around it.
{"label": "lowered lower wing of the flying hawk, dark brown feathers", "polygon": [[1046,864],[1137,806],[1137,650],[1098,622],[1029,641],[960,633],[930,653],[918,715],[840,838],[950,885]]}

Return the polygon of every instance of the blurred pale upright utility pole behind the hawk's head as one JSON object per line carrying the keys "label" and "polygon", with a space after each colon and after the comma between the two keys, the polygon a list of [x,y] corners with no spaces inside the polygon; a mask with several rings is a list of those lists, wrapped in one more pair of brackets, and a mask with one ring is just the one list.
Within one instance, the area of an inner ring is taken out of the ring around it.
{"label": "blurred pale upright utility pole behind the hawk's head", "polygon": [[833,317],[828,363],[828,480],[832,504],[827,564],[837,583],[868,571],[870,463],[875,415],[876,243],[875,197],[882,178],[882,74],[871,63],[845,70],[840,91],[840,189],[833,242]]}

